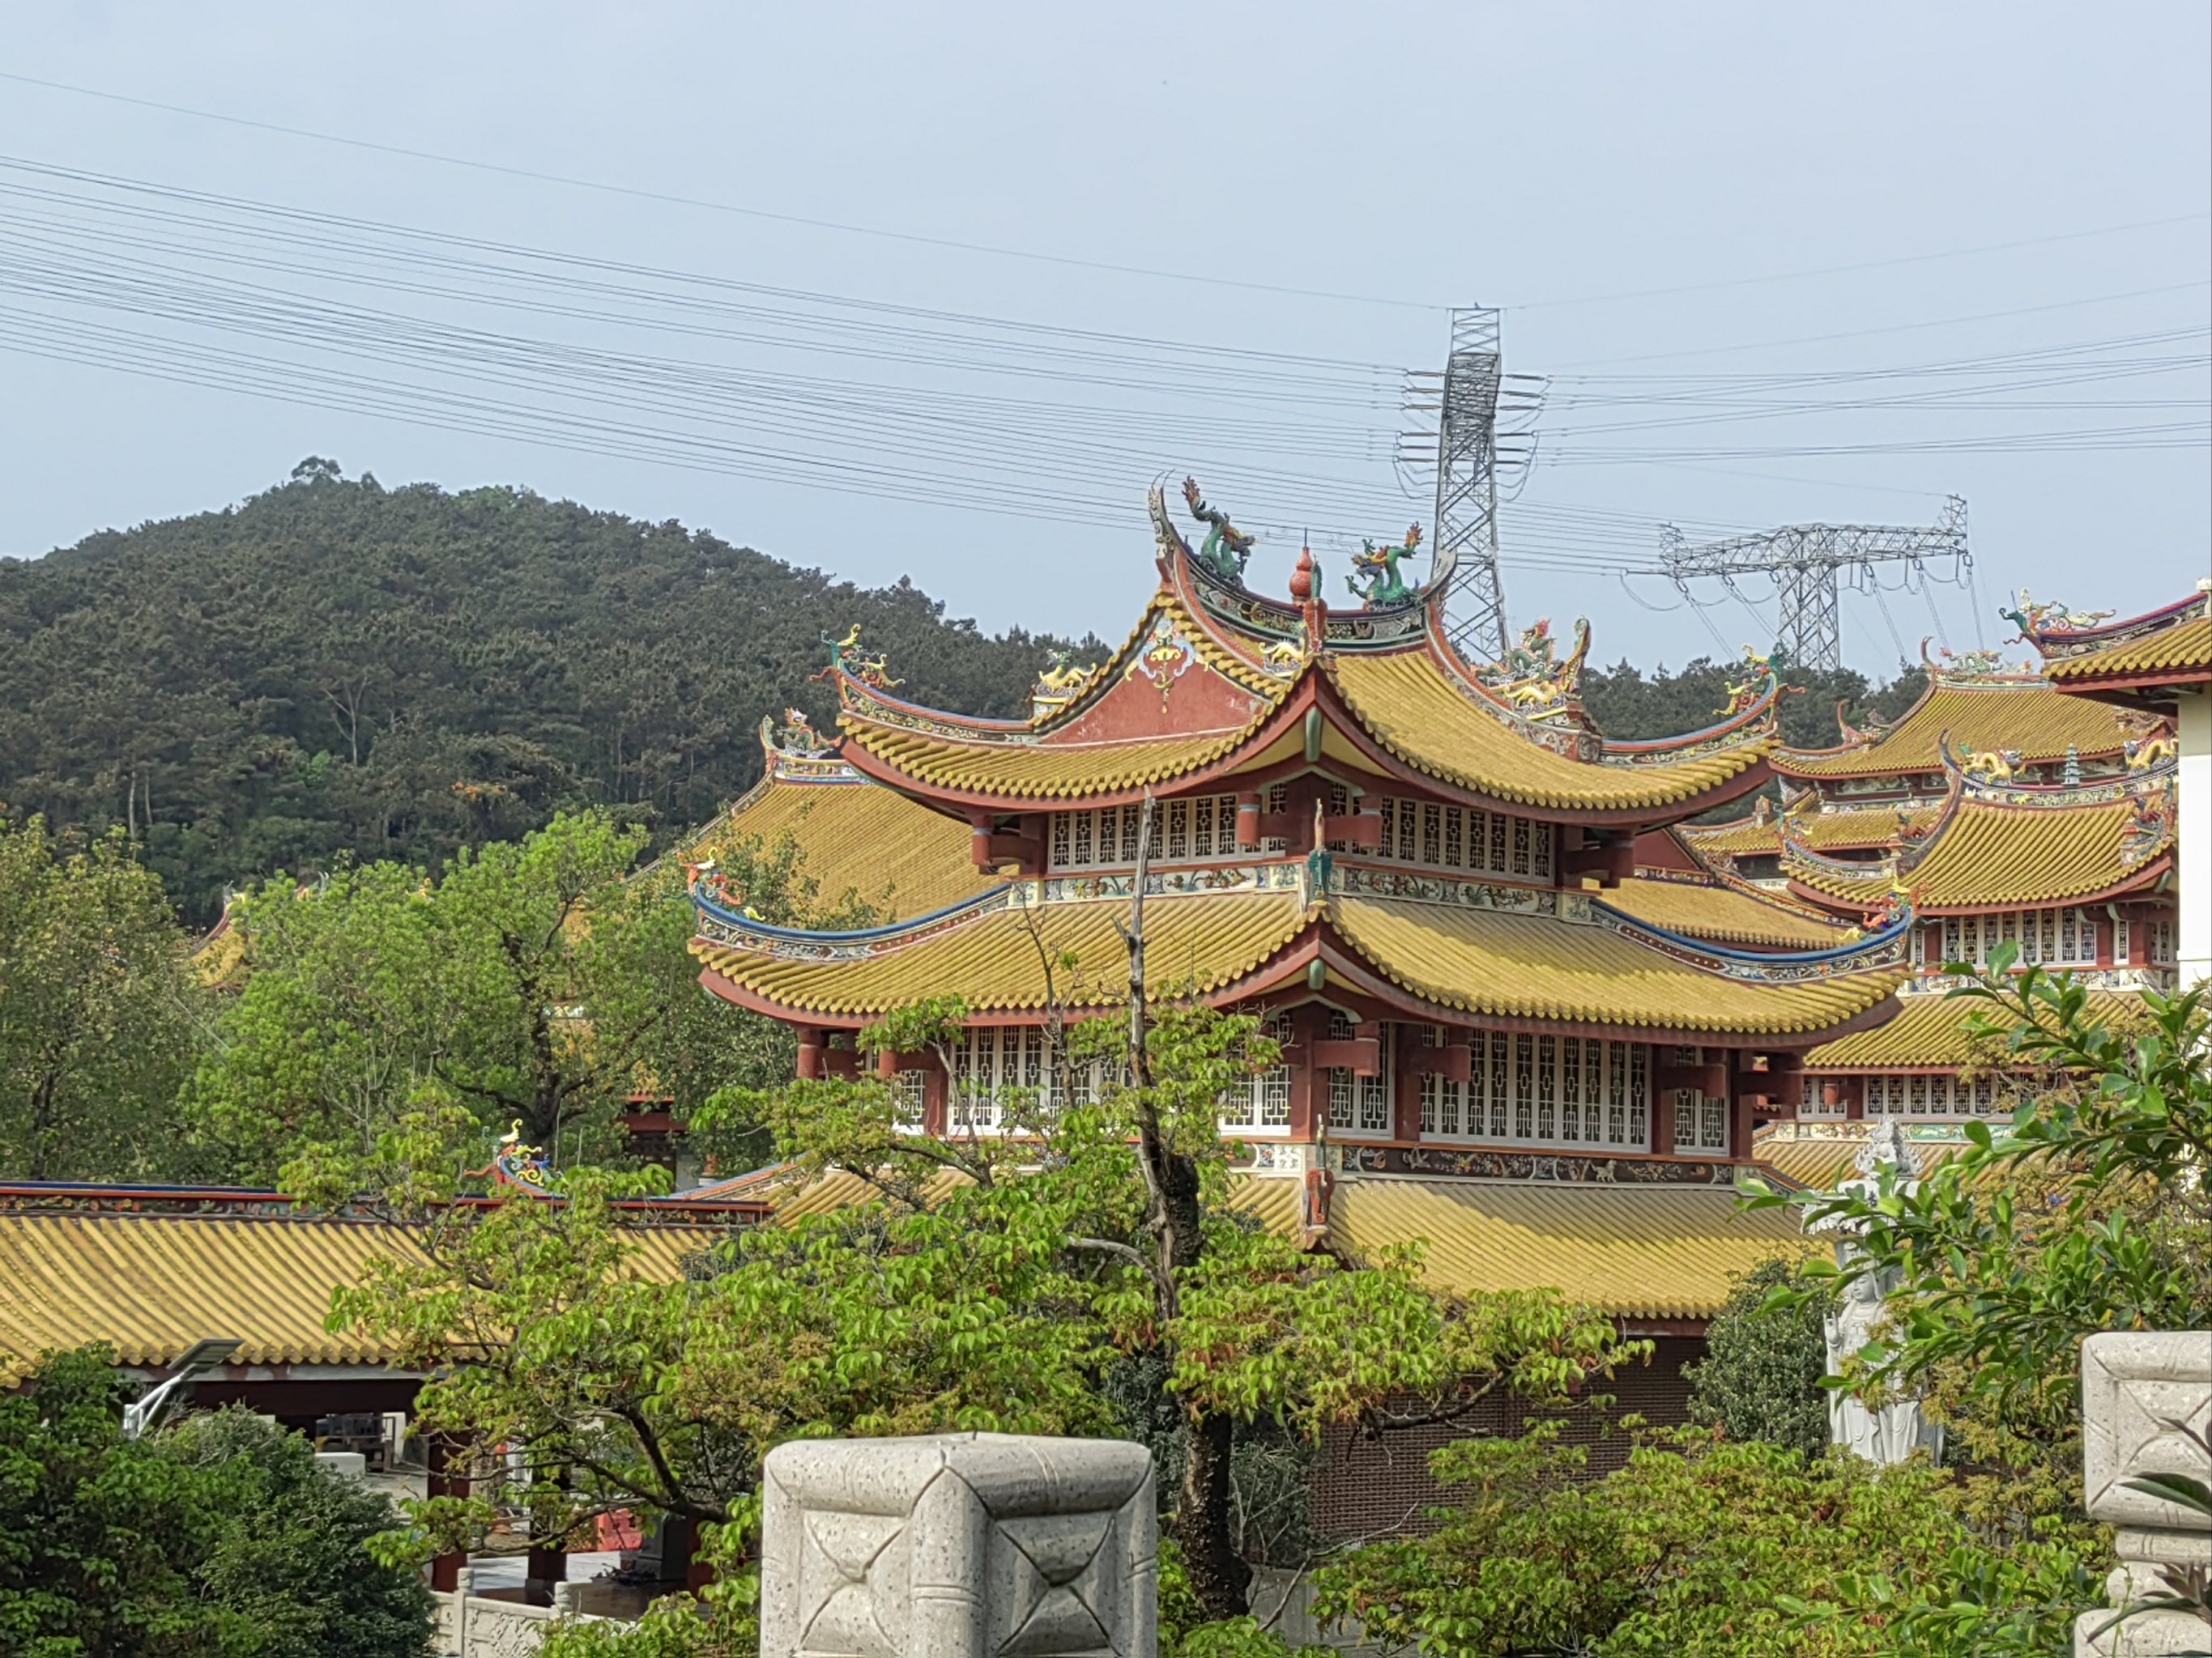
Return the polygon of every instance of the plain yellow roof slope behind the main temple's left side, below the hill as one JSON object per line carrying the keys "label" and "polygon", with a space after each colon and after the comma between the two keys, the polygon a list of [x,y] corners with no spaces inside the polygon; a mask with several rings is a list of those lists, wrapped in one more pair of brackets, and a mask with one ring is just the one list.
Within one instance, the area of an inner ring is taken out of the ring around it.
{"label": "plain yellow roof slope behind the main temple's left side, below the hill", "polygon": [[743,840],[774,847],[783,836],[805,853],[801,873],[821,882],[823,904],[858,893],[887,922],[929,915],[998,884],[975,869],[964,822],[869,780],[770,774],[692,838],[684,860],[717,858]]}

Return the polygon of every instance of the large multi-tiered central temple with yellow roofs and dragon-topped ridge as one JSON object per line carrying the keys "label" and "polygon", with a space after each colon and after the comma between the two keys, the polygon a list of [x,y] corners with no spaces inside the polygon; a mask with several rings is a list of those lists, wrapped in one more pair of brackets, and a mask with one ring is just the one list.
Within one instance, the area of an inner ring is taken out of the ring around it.
{"label": "large multi-tiered central temple with yellow roofs and dragon-topped ridge", "polygon": [[1736,1211],[1756,1123],[1798,1110],[1809,1050],[1896,1012],[1913,935],[1679,842],[1646,867],[1672,825],[1767,783],[1774,672],[1754,659],[1708,730],[1610,741],[1577,696],[1586,628],[1464,663],[1449,562],[1398,581],[1411,537],[1332,608],[1310,553],[1285,604],[1243,586],[1225,520],[1199,550],[1157,495],[1152,522],[1159,588],[1128,641],[1055,663],[1026,718],[907,703],[858,639],[832,648],[836,736],[763,725],[768,776],[714,836],[787,833],[818,898],[874,920],[776,924],[708,838],[706,988],[794,1028],[803,1077],[858,1074],[860,1028],[958,995],[949,1068],[874,1063],[918,1130],[998,1132],[1009,1090],[1095,1085],[1057,1074],[1051,1030],[1126,999],[1141,856],[1146,995],[1281,1043],[1221,1116],[1254,1214],[1354,1256],[1427,1238],[1440,1287],[1557,1287],[1699,1335],[1730,1273],[1801,1247]]}

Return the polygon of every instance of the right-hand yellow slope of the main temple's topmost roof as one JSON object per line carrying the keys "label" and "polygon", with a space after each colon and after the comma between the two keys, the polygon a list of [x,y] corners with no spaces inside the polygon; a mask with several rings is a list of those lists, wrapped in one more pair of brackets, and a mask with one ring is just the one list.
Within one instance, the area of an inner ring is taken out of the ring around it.
{"label": "right-hand yellow slope of the main temple's topmost roof", "polygon": [[1652,765],[1593,765],[1531,743],[1444,679],[1425,650],[1329,657],[1329,681],[1400,760],[1471,794],[1533,807],[1635,811],[1717,789],[1756,765],[1767,743]]}

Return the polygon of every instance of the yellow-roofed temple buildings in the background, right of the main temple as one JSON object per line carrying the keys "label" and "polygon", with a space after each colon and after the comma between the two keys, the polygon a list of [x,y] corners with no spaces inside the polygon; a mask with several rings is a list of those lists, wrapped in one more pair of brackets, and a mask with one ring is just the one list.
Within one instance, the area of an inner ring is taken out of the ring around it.
{"label": "yellow-roofed temple buildings in the background, right of the main temple", "polygon": [[2177,964],[2174,756],[2150,714],[2066,696],[1995,652],[1927,663],[1920,699],[1829,749],[1776,749],[1783,809],[1677,831],[1723,875],[1867,924],[1909,906],[1905,1010],[1807,1054],[1803,1123],[2011,1116],[2031,1079],[1978,1041],[1947,962],[2088,982],[2126,1024]]}

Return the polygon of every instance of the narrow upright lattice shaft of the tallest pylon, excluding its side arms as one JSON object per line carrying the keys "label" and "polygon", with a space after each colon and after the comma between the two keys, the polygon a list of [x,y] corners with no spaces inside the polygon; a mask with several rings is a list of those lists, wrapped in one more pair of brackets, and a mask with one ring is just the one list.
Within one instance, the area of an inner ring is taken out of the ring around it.
{"label": "narrow upright lattice shaft of the tallest pylon, excluding its side arms", "polygon": [[1498,577],[1498,312],[1451,314],[1442,413],[1436,422],[1436,562],[1451,564],[1444,634],[1469,661],[1506,654],[1506,590]]}

